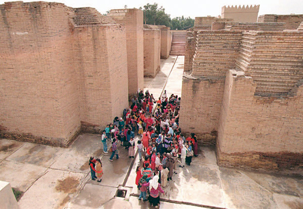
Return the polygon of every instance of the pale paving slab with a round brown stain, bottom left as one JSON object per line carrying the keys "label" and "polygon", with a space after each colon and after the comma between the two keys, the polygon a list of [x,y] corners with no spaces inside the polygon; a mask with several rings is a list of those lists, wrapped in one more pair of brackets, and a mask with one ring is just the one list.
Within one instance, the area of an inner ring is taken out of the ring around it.
{"label": "pale paving slab with a round brown stain, bottom left", "polygon": [[76,193],[86,174],[48,169],[21,197],[21,209],[63,208]]}

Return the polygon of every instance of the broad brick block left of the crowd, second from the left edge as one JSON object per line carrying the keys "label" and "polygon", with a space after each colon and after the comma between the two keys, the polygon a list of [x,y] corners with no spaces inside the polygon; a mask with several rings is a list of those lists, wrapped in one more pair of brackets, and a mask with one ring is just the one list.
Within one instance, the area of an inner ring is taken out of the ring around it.
{"label": "broad brick block left of the crowd, second from the left edge", "polygon": [[117,24],[77,27],[74,50],[81,121],[105,127],[128,106],[125,28]]}

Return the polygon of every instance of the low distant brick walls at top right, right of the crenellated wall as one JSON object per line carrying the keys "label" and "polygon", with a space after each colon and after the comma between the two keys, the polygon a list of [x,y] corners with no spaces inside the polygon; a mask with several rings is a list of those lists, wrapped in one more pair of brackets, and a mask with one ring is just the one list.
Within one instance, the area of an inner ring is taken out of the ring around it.
{"label": "low distant brick walls at top right, right of the crenellated wall", "polygon": [[260,15],[258,22],[278,22],[285,23],[287,30],[295,30],[303,22],[303,15]]}

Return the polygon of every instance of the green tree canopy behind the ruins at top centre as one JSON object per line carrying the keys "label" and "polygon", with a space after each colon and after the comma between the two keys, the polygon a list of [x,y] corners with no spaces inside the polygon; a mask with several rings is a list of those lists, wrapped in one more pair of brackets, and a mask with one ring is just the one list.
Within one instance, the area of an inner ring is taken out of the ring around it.
{"label": "green tree canopy behind the ruins at top centre", "polygon": [[158,7],[157,3],[154,3],[153,5],[146,4],[143,6],[143,9],[141,7],[139,9],[143,10],[144,24],[165,25],[172,30],[186,30],[192,28],[194,24],[194,20],[190,17],[184,18],[182,16],[171,19],[170,15],[165,13],[165,9],[163,7]]}

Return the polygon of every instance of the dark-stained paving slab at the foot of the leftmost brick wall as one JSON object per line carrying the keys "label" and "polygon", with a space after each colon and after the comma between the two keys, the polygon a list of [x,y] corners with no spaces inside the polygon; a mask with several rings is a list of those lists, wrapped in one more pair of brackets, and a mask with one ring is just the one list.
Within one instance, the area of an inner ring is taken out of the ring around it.
{"label": "dark-stained paving slab at the foot of the leftmost brick wall", "polygon": [[60,157],[63,151],[64,148],[25,143],[7,160],[49,167]]}

